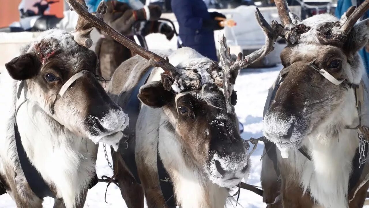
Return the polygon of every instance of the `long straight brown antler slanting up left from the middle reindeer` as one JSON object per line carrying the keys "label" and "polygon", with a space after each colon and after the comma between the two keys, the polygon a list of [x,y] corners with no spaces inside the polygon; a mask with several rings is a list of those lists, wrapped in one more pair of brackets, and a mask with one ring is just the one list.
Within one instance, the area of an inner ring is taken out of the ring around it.
{"label": "long straight brown antler slanting up left from the middle reindeer", "polygon": [[[149,60],[151,65],[155,67],[161,67],[166,73],[170,74],[170,76],[172,76],[173,78],[181,74],[180,71],[176,67],[174,67],[172,64],[170,64],[169,61],[167,61],[165,58],[149,50],[146,50],[145,48],[139,46],[132,40],[128,39],[127,37],[115,31],[108,24],[106,24],[101,18],[99,18],[101,14],[98,15],[97,14],[98,12],[96,12],[95,14],[89,13],[86,9],[84,0],[79,0],[80,3],[78,3],[77,0],[66,0],[66,1],[69,4],[69,7],[75,10],[76,13],[79,14],[80,17],[88,21],[93,26],[104,31],[106,34],[111,36],[114,40],[118,41],[120,44],[134,51],[139,56],[142,56],[146,58],[147,60]],[[105,2],[102,1],[99,4],[99,7],[100,5],[105,7]]]}

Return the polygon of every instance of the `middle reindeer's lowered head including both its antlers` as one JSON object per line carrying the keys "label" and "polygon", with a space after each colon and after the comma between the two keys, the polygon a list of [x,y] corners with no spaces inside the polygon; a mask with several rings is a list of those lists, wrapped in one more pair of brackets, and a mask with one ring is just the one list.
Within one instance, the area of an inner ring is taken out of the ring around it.
{"label": "middle reindeer's lowered head including both its antlers", "polygon": [[[145,50],[128,38],[117,33],[103,21],[89,14],[75,0],[67,0],[71,8],[114,40],[149,60],[152,66],[163,70],[161,81],[141,87],[142,103],[162,108],[170,124],[167,128],[177,135],[183,145],[189,164],[206,172],[205,177],[221,187],[238,184],[248,174],[249,148],[238,131],[234,105],[237,95],[233,84],[238,70],[266,56],[273,50],[276,35],[256,9],[256,18],[266,33],[266,45],[242,59],[232,60],[225,38],[221,40],[221,64],[201,56],[189,48],[175,52],[181,56],[173,66],[168,59]],[[273,25],[274,27],[274,25]],[[188,56],[188,57],[187,57]]]}

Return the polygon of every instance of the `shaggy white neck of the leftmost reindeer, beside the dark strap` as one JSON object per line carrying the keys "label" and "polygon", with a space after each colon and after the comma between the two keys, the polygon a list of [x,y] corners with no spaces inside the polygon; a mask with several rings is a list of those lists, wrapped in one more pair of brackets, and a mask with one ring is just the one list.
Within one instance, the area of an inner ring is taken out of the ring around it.
{"label": "shaggy white neck of the leftmost reindeer, beside the dark strap", "polygon": [[73,207],[93,177],[97,146],[55,123],[32,101],[24,103],[17,113],[28,158],[66,207]]}

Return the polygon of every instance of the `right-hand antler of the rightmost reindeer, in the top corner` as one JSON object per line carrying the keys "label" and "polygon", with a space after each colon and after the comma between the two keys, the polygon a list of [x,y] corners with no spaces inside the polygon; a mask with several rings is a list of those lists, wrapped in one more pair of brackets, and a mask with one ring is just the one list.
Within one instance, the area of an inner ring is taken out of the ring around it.
{"label": "right-hand antler of the rightmost reindeer, in the top corner", "polygon": [[351,31],[352,27],[354,27],[354,24],[356,21],[360,19],[363,14],[368,11],[369,9],[369,0],[365,0],[360,6],[354,10],[355,7],[350,7],[346,11],[346,16],[348,16],[348,19],[346,22],[342,25],[341,31],[343,34],[347,34],[349,31]]}

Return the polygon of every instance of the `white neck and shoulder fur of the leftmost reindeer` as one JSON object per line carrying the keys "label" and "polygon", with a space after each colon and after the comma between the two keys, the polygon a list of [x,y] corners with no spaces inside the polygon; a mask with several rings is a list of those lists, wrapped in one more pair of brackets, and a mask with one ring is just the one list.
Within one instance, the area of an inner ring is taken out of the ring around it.
{"label": "white neck and shoulder fur of the leftmost reindeer", "polygon": [[[12,89],[0,92],[3,97],[2,112],[9,112],[6,113],[8,116],[3,114],[0,120],[0,172],[4,174],[6,167],[17,168],[15,171],[20,173],[15,178],[19,187],[17,191],[24,195],[21,187],[26,180],[18,164],[14,119],[11,118],[15,109],[15,81],[4,71],[0,75],[0,82],[1,87]],[[46,113],[32,101],[20,107],[17,124],[22,144],[31,163],[37,167],[44,180],[55,185],[57,197],[63,198],[67,208],[72,208],[93,176],[97,146],[87,138],[76,138],[66,129],[55,131],[52,125],[45,122],[46,117]]]}

